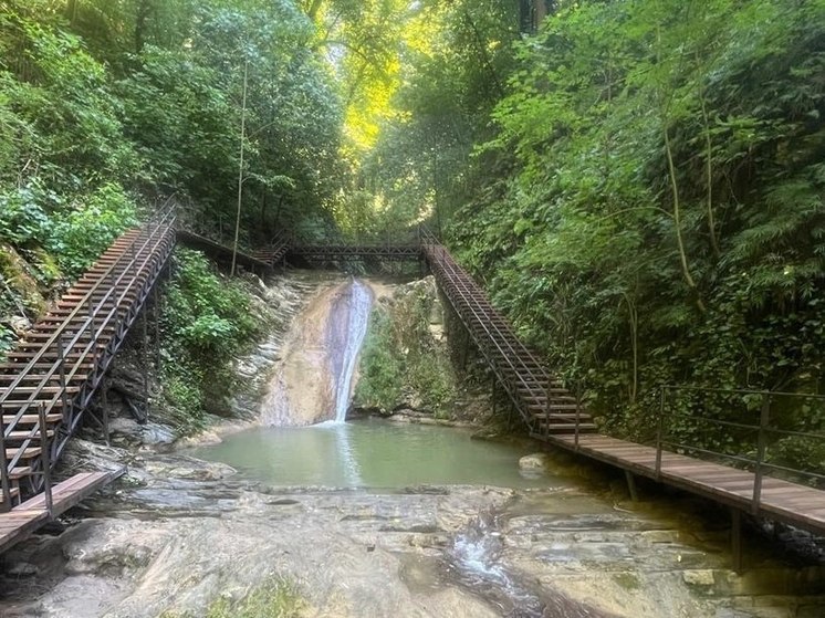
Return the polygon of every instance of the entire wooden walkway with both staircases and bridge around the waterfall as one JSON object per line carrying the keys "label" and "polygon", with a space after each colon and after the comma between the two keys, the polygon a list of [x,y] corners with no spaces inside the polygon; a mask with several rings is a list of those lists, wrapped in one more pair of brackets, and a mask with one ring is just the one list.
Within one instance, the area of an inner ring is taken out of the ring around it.
{"label": "entire wooden walkway with both staircases and bridge around the waterfall", "polygon": [[[734,557],[740,555],[743,514],[825,535],[825,492],[775,478],[774,472],[789,470],[780,470],[766,458],[769,432],[776,432],[770,423],[770,404],[780,394],[755,395],[763,398],[760,419],[744,426],[758,436],[755,454],[730,458],[678,443],[667,431],[667,419],[676,410],[666,405],[672,400],[666,389],[654,443],[619,440],[598,432],[586,406],[519,339],[484,291],[432,234],[419,232],[407,243],[358,245],[306,244],[280,235],[257,251],[239,252],[186,230],[176,231],[175,213],[165,209],[117,239],[0,365],[0,451],[4,453],[0,458],[0,552],[122,473],[84,473],[54,486],[51,482],[51,470],[87,412],[126,333],[142,311],[145,315],[176,239],[250,270],[273,269],[291,260],[422,263],[532,437],[624,470],[631,495],[635,478],[646,476],[729,507]],[[106,416],[96,421],[105,432]],[[823,439],[800,431],[785,433]],[[825,481],[805,471],[790,473],[812,484]]]}

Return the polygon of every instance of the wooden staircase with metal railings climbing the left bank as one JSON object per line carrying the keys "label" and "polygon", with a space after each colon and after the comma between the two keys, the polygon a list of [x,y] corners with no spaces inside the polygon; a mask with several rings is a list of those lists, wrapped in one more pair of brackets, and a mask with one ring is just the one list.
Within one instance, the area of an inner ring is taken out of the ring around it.
{"label": "wooden staircase with metal railings climbing the left bank", "polygon": [[118,238],[0,364],[0,512],[49,484],[175,244],[165,209]]}

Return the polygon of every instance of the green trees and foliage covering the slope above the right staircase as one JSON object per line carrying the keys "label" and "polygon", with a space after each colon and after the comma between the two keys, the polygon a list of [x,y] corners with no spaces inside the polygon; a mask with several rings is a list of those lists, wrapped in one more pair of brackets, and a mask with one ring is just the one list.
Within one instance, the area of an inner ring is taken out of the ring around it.
{"label": "green trees and foliage covering the slope above the right staircase", "polygon": [[431,44],[405,50],[364,187],[449,223],[608,429],[649,436],[662,383],[818,388],[822,1],[555,2],[532,36],[503,8],[419,9]]}

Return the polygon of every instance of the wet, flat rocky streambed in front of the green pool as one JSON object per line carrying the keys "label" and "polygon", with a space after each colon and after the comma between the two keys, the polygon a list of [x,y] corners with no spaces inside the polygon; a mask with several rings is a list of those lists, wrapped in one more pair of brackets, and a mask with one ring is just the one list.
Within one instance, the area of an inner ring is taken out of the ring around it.
{"label": "wet, flat rocky streambed in front of the green pool", "polygon": [[273,579],[300,598],[296,616],[825,615],[821,568],[756,551],[737,575],[701,503],[630,503],[594,479],[560,483],[561,469],[545,489],[378,493],[265,486],[175,453],[75,450],[133,465],[61,534],[4,556],[3,617],[211,616]]}

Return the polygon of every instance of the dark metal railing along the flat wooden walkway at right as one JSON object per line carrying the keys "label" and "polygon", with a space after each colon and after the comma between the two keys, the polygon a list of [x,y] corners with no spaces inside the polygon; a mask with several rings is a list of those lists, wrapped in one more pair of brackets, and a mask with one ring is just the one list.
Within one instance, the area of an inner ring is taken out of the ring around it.
{"label": "dark metal railing along the flat wooden walkway at right", "polygon": [[[665,385],[656,430],[657,475],[664,451],[752,470],[756,512],[765,475],[825,485],[825,396]],[[822,463],[806,468],[798,463],[805,459]]]}

